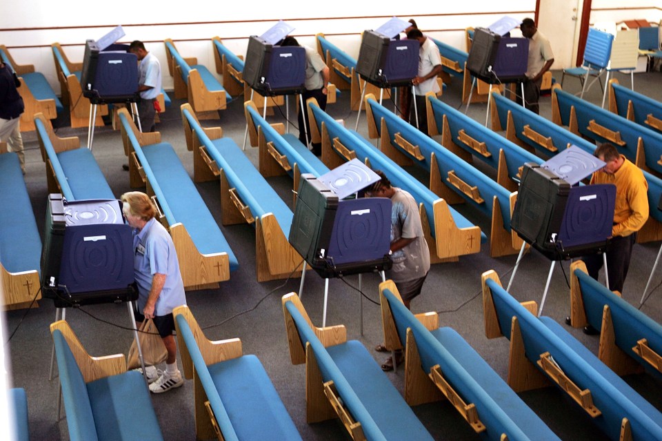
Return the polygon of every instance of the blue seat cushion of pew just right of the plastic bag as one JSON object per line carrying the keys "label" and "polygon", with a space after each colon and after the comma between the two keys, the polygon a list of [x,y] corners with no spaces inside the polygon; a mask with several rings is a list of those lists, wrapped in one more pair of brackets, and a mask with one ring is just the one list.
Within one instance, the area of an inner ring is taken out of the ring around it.
{"label": "blue seat cushion of pew just right of the plastic bag", "polygon": [[301,439],[255,355],[211,364],[208,369],[240,440]]}

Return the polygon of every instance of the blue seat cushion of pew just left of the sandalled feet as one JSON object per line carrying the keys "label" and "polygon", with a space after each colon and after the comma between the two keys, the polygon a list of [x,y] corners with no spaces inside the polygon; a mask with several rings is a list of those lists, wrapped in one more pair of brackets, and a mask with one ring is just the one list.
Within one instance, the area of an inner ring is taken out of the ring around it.
{"label": "blue seat cushion of pew just left of the sandalled feet", "polygon": [[354,393],[381,431],[392,440],[429,436],[412,408],[402,399],[365,346],[357,340],[326,348]]}

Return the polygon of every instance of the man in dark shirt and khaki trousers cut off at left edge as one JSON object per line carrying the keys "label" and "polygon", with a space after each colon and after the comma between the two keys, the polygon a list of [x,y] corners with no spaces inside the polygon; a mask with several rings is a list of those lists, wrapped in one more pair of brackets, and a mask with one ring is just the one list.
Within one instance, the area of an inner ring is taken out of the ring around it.
{"label": "man in dark shirt and khaki trousers cut off at left edge", "polygon": [[0,62],[0,141],[6,141],[10,152],[16,152],[21,161],[21,170],[26,174],[26,158],[23,153],[23,138],[19,118],[25,106],[14,82],[14,72]]}

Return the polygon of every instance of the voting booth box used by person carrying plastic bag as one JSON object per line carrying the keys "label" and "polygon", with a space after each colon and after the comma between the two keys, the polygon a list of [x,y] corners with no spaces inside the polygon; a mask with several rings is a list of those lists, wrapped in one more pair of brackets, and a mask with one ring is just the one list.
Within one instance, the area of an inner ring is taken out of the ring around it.
{"label": "voting booth box used by person carrying plastic bag", "polygon": [[135,300],[133,235],[117,199],[48,195],[41,291],[58,308]]}

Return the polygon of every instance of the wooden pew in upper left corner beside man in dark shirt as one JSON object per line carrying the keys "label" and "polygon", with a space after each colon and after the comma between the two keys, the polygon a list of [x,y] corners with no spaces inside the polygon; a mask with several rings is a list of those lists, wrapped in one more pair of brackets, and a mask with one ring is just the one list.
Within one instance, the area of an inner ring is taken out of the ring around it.
{"label": "wooden pew in upper left corner beside man in dark shirt", "polygon": [[35,113],[43,113],[48,119],[57,118],[57,114],[64,110],[64,106],[55,95],[53,88],[48,84],[46,77],[41,72],[34,72],[32,64],[20,65],[14,61],[9,50],[3,44],[0,44],[0,59],[16,72],[21,80],[19,94],[26,106],[23,115],[21,115],[21,132],[34,130],[34,120],[32,118]]}

